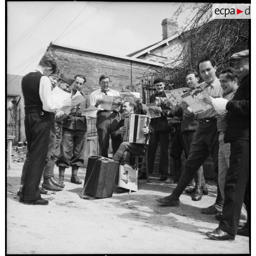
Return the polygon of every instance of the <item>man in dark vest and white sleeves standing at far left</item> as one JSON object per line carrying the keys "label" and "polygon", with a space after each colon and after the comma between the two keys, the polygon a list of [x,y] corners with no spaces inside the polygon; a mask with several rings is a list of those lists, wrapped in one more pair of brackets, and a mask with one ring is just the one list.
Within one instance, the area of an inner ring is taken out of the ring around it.
{"label": "man in dark vest and white sleeves standing at far left", "polygon": [[25,75],[21,82],[30,160],[19,201],[32,205],[49,203],[41,198],[39,183],[45,166],[50,128],[54,123],[55,111],[63,106],[71,106],[71,100],[66,100],[61,105],[52,100],[48,76],[55,71],[55,59],[49,53],[45,53],[36,69]]}

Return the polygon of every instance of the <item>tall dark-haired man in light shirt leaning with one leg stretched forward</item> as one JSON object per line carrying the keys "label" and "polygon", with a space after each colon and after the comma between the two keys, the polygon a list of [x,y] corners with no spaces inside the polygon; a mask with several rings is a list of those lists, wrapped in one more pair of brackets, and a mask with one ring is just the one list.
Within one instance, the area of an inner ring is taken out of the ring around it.
{"label": "tall dark-haired man in light shirt leaning with one leg stretched forward", "polygon": [[[198,84],[207,95],[217,98],[222,97],[223,89],[221,88],[220,81],[216,76],[215,61],[213,61],[207,54],[200,56],[197,68],[200,71],[201,77],[205,82]],[[188,159],[185,161],[184,172],[182,173],[176,189],[173,190],[171,195],[163,198],[156,199],[158,202],[169,206],[179,205],[179,196],[192,180],[195,172],[204,163],[207,157],[211,154],[213,159],[213,169],[218,177],[218,133],[217,133],[217,112],[214,107],[195,114],[191,108],[185,103],[183,106],[184,114],[187,116],[194,116],[195,120],[199,122],[195,132],[195,138],[190,147]],[[207,208],[202,208],[205,214],[217,214],[222,212],[223,197],[217,185],[217,198],[214,205]]]}

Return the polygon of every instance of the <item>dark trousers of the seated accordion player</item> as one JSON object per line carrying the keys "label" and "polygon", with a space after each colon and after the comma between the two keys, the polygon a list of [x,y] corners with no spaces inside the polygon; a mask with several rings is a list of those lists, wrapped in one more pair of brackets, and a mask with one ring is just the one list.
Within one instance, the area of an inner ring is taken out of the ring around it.
{"label": "dark trousers of the seated accordion player", "polygon": [[121,162],[121,165],[125,165],[130,163],[131,155],[140,156],[144,153],[145,145],[124,141],[121,143],[116,154],[113,156],[113,160]]}

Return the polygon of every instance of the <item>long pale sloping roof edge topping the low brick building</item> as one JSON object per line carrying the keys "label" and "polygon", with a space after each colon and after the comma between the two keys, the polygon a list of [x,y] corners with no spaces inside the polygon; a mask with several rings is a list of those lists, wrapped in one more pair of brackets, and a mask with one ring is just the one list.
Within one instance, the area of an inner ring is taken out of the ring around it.
{"label": "long pale sloping roof edge topping the low brick building", "polygon": [[[111,56],[111,57],[120,58],[120,59],[124,59],[124,60],[128,60],[128,61],[136,61],[136,62],[145,63],[145,64],[149,64],[149,65],[154,65],[154,66],[158,66],[158,67],[163,67],[164,66],[164,64],[159,63],[159,62],[136,59],[136,58],[134,58],[134,56],[133,57],[128,57],[128,56],[120,56],[120,55],[114,55],[114,54],[110,55],[110,54],[108,54],[106,52],[102,52],[102,51],[89,50],[89,49],[84,49],[84,48],[71,46],[71,45],[63,45],[63,44],[59,44],[59,43],[56,43],[56,42],[55,43],[50,43],[50,45],[56,45],[56,46],[60,46],[60,47],[63,47],[63,48],[69,48],[69,49],[74,49],[74,50],[81,50],[81,51],[86,51],[86,52]],[[50,47],[50,45],[49,45],[49,47]]]}

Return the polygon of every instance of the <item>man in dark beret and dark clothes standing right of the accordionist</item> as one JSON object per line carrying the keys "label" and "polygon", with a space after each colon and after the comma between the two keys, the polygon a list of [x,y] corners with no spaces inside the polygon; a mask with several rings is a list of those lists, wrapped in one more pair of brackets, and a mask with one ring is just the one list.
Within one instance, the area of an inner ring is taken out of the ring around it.
{"label": "man in dark beret and dark clothes standing right of the accordionist", "polygon": [[[165,83],[163,78],[156,78],[154,80],[154,85],[156,89],[156,93],[150,96],[150,103],[155,102],[156,97],[166,97],[164,88]],[[159,180],[165,181],[167,180],[168,174],[168,166],[169,166],[169,142],[170,142],[170,126],[167,123],[167,111],[169,108],[162,104],[161,107],[157,107],[156,111],[161,114],[161,117],[152,118],[150,121],[150,125],[154,129],[154,134],[150,136],[149,140],[149,148],[148,148],[148,168],[149,173],[153,173],[154,169],[154,161],[156,156],[156,149],[158,143],[160,143],[160,161],[159,161],[159,173],[161,173],[161,177]],[[146,178],[145,173],[142,173],[144,177],[139,178]]]}

